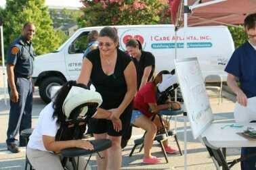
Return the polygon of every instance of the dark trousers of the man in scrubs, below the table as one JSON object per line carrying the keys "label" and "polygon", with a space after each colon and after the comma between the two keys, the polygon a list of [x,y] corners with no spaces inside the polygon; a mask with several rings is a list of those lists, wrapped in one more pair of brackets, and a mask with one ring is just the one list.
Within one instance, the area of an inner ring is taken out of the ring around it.
{"label": "dark trousers of the man in scrubs, below the table", "polygon": [[[251,123],[256,123],[256,121],[251,121]],[[249,157],[251,154],[256,153],[256,147],[251,148],[242,148],[241,149],[241,157]],[[249,157],[249,159],[245,159],[241,161],[241,169],[242,170],[256,170],[256,156]]]}

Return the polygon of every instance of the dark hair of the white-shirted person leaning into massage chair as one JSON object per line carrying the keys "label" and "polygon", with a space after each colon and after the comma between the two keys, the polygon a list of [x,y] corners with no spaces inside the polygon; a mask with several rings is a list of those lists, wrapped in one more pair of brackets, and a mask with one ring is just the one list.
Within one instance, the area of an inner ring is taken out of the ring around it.
{"label": "dark hair of the white-shirted person leaning into massage chair", "polygon": [[66,84],[64,84],[62,86],[62,88],[60,88],[60,90],[58,90],[58,92],[56,92],[56,94],[54,95],[54,114],[53,114],[53,118],[57,117],[57,123],[60,124],[61,122],[64,122],[66,120],[66,115],[63,113],[62,111],[62,105],[66,99],[66,96],[68,95],[68,92],[70,91],[70,89],[72,88],[72,86],[78,86],[81,88],[85,88],[88,89],[87,86],[85,86],[85,84],[77,84],[76,81],[71,80],[66,82]]}

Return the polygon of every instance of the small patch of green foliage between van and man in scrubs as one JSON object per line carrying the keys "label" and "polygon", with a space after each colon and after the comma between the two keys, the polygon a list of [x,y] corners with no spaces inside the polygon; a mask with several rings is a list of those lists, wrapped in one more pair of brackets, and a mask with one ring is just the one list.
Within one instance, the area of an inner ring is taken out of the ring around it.
{"label": "small patch of green foliage between van and man in scrubs", "polygon": [[229,26],[228,29],[232,34],[234,45],[236,48],[247,41],[247,34],[244,32],[243,26],[238,26],[238,27]]}

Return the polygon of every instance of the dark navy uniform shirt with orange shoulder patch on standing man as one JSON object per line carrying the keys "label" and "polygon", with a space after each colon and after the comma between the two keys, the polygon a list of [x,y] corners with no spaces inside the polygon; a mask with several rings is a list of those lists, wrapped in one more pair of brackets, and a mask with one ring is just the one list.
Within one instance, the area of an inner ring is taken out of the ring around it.
{"label": "dark navy uniform shirt with orange shoulder patch on standing man", "polygon": [[32,76],[35,52],[32,43],[24,41],[20,36],[9,47],[7,54],[7,63],[15,65],[15,76]]}

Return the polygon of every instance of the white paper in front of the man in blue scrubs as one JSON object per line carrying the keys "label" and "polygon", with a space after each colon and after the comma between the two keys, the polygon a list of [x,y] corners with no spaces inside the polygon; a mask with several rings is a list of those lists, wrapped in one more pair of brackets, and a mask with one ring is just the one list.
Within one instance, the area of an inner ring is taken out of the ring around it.
{"label": "white paper in front of the man in blue scrubs", "polygon": [[256,97],[248,98],[247,107],[236,102],[234,118],[239,123],[249,123],[250,121],[256,120]]}

